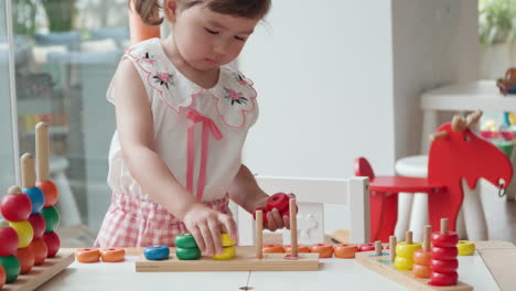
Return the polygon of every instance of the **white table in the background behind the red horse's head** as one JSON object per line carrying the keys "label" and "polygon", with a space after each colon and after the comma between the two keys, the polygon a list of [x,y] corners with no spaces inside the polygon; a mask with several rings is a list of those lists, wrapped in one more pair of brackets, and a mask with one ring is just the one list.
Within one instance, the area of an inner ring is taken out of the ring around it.
{"label": "white table in the background behind the red horse's head", "polygon": [[[428,154],[429,137],[439,126],[439,111],[473,111],[476,109],[501,112],[516,111],[516,96],[499,94],[495,80],[461,83],[424,93],[421,96],[421,109],[423,110],[421,153]],[[516,165],[515,154],[513,154],[513,165]],[[512,183],[507,190],[507,198],[514,200],[516,197],[515,184]]]}

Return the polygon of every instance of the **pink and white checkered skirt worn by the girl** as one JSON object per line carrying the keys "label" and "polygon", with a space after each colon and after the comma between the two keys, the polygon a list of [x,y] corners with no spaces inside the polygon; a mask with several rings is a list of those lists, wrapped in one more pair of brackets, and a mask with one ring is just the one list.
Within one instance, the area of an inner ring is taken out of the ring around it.
{"label": "pink and white checkered skirt worn by the girl", "polygon": [[[206,202],[206,206],[224,214],[228,208],[228,195]],[[150,245],[174,246],[176,235],[187,233],[183,222],[161,205],[150,200],[114,193],[95,247],[147,247]]]}

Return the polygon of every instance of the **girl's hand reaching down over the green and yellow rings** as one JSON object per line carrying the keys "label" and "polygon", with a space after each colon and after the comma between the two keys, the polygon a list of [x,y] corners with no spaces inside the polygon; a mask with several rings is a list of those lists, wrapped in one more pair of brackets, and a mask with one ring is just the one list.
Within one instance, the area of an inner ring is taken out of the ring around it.
{"label": "girl's hand reaching down over the green and yellow rings", "polygon": [[237,226],[232,216],[214,211],[201,203],[194,204],[183,217],[186,229],[194,236],[198,248],[207,256],[222,254],[221,226],[224,226],[229,237],[236,240]]}

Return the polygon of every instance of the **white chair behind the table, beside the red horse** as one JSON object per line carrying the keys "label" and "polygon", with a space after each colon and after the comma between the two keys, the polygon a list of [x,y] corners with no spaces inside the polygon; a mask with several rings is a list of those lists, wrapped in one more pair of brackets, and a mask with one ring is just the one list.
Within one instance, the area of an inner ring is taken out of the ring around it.
{"label": "white chair behind the table, beside the red horse", "polygon": [[[323,204],[344,204],[347,211],[335,219],[348,222],[350,241],[369,241],[369,180],[351,179],[300,179],[257,176],[260,187],[268,194],[293,193],[298,200],[298,241],[300,244],[323,242]],[[239,245],[255,244],[252,216],[238,207]],[[283,241],[290,244],[290,231],[283,231]]]}

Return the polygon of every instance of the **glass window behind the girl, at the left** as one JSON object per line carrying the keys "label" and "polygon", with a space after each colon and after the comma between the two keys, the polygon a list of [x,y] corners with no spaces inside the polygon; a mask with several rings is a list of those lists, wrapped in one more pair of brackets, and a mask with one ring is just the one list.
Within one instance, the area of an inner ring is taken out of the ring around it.
{"label": "glass window behind the girl, at the left", "polygon": [[[105,96],[130,43],[127,13],[120,12],[126,11],[127,0],[8,1],[20,154],[34,153],[34,126],[47,122],[62,245],[89,246],[110,202],[106,177],[115,115]],[[2,192],[14,183],[4,2],[0,3],[0,132],[8,147],[0,147]]]}

